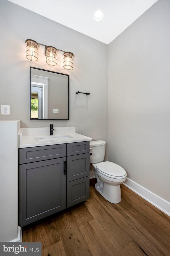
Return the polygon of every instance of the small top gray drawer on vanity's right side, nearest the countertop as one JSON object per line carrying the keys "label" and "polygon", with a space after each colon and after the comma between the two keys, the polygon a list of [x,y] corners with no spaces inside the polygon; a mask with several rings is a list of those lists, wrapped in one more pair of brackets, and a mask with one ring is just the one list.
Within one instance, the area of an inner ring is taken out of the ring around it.
{"label": "small top gray drawer on vanity's right side, nearest the countertop", "polygon": [[89,141],[75,142],[67,144],[67,155],[79,155],[88,153],[90,150]]}

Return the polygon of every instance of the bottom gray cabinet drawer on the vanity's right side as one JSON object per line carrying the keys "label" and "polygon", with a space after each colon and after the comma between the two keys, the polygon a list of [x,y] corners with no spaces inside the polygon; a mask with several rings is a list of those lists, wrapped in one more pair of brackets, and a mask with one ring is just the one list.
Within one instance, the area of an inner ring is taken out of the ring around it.
{"label": "bottom gray cabinet drawer on the vanity's right side", "polygon": [[89,199],[89,176],[67,182],[67,207]]}

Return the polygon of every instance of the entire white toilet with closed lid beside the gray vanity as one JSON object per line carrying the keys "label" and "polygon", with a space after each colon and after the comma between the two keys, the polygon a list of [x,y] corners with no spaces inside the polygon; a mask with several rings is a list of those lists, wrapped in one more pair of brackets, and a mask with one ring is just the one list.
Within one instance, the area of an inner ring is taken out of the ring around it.
{"label": "entire white toilet with closed lid beside the gray vanity", "polygon": [[90,163],[94,167],[97,183],[95,188],[111,203],[120,203],[120,184],[126,180],[126,171],[120,165],[103,162],[105,155],[105,141],[90,141]]}

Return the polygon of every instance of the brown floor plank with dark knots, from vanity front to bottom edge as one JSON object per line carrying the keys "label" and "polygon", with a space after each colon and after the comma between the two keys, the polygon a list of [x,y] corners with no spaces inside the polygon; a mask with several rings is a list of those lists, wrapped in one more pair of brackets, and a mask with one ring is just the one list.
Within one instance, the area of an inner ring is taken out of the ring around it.
{"label": "brown floor plank with dark knots, from vanity front to bottom edge", "polygon": [[57,216],[56,225],[66,256],[92,256],[77,223],[71,221],[66,213]]}

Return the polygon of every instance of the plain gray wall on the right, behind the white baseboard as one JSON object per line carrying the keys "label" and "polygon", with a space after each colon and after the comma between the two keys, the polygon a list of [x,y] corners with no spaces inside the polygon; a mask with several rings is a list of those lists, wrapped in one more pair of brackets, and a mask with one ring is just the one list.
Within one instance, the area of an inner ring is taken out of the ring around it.
{"label": "plain gray wall on the right, behind the white baseboard", "polygon": [[169,1],[158,1],[108,46],[108,160],[170,201]]}

